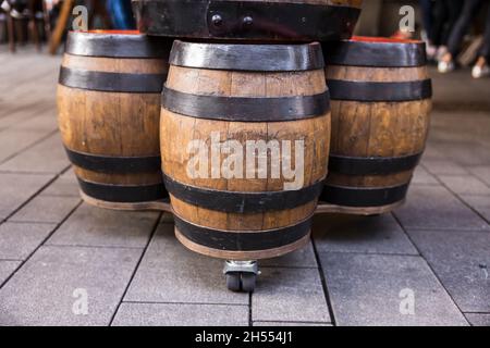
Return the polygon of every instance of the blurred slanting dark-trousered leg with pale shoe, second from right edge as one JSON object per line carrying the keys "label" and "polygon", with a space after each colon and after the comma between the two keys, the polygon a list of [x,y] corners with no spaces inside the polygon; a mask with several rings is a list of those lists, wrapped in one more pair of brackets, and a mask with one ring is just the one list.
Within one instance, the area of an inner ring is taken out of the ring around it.
{"label": "blurred slanting dark-trousered leg with pale shoe, second from right edge", "polygon": [[473,20],[478,14],[478,10],[485,0],[465,0],[463,11],[456,21],[448,39],[448,53],[442,57],[439,62],[438,70],[440,73],[449,73],[454,71],[455,58],[460,53],[464,36],[468,33]]}

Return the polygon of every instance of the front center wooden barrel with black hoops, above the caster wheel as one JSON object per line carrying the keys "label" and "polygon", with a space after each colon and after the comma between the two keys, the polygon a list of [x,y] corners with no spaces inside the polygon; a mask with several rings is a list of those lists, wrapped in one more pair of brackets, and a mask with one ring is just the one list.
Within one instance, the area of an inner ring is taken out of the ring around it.
{"label": "front center wooden barrel with black hoops, above the caster wheel", "polygon": [[175,41],[170,64],[160,132],[177,238],[230,260],[303,247],[330,146],[319,44]]}

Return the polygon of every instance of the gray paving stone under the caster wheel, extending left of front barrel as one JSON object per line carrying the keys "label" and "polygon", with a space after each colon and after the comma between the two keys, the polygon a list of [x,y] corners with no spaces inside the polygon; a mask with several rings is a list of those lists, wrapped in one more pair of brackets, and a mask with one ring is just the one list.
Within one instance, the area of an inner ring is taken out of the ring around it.
{"label": "gray paving stone under the caster wheel, extending left of front barrel", "polygon": [[248,304],[248,295],[226,289],[222,270],[223,261],[185,249],[173,225],[160,224],[124,300]]}

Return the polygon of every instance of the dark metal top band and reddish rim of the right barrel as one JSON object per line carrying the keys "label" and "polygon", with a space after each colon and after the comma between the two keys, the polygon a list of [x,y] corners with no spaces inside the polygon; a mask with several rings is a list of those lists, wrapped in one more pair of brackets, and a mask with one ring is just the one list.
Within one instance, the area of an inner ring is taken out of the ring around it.
{"label": "dark metal top band and reddish rim of the right barrel", "polygon": [[353,37],[323,44],[327,65],[411,67],[427,64],[426,45],[419,40]]}

